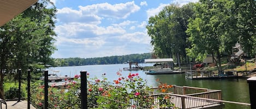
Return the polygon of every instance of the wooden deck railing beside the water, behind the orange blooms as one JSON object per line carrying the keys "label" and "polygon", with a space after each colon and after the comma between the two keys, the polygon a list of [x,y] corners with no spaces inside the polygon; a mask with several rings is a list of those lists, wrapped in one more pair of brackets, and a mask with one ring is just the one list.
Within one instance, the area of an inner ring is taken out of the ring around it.
{"label": "wooden deck railing beside the water, behind the orange blooms", "polygon": [[[161,92],[165,89],[166,93]],[[205,106],[223,106],[221,90],[197,88],[188,86],[173,86],[171,88],[152,88],[150,96],[154,99],[154,108],[160,108],[161,103],[173,104],[175,108],[195,108]],[[166,96],[168,96],[166,98]],[[165,99],[163,99],[163,97]],[[164,100],[164,102],[162,101]]]}

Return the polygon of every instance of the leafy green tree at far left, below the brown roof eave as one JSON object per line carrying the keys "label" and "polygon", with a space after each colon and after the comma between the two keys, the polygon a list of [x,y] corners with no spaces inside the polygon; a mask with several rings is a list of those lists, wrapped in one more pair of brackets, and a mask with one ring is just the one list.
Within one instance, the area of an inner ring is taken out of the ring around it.
{"label": "leafy green tree at far left, below the brown roof eave", "polygon": [[4,99],[4,75],[33,64],[50,62],[53,46],[56,8],[49,0],[42,0],[0,28],[0,98]]}

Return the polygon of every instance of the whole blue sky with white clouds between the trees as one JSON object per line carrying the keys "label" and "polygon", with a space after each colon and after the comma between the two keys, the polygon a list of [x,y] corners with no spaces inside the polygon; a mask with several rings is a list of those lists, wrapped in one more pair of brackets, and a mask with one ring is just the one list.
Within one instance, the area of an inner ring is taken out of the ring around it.
{"label": "whole blue sky with white clouds between the trees", "polygon": [[198,0],[51,0],[57,8],[52,57],[104,57],[152,52],[148,18],[166,5]]}

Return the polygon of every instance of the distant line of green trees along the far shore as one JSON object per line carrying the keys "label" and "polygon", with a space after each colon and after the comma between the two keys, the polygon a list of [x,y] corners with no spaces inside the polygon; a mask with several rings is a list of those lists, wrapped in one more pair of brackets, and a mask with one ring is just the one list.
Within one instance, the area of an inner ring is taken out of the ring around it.
{"label": "distant line of green trees along the far shore", "polygon": [[109,65],[126,62],[144,62],[145,59],[150,59],[151,53],[130,54],[122,56],[106,56],[94,58],[70,57],[67,59],[54,59],[53,66],[84,66],[84,65]]}

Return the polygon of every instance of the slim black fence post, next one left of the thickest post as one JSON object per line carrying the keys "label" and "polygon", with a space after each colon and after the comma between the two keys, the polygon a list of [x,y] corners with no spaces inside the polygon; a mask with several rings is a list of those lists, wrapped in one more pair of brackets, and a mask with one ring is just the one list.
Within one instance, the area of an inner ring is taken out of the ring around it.
{"label": "slim black fence post, next one left of the thickest post", "polygon": [[48,70],[44,71],[44,108],[48,108]]}

